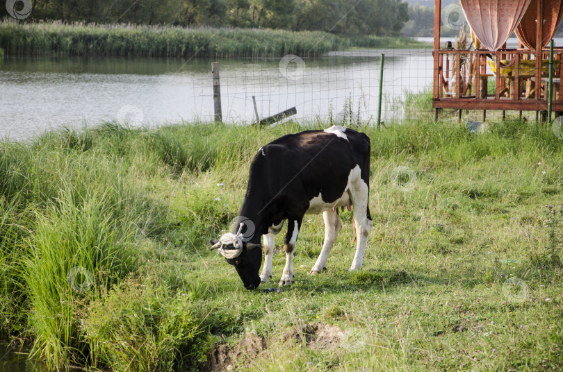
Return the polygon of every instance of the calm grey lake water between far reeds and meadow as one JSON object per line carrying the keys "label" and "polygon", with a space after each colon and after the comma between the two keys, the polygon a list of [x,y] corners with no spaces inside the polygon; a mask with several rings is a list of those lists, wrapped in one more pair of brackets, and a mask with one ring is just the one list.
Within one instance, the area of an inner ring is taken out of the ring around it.
{"label": "calm grey lake water between far reeds and meadow", "polygon": [[[341,117],[346,101],[377,117],[380,54],[385,54],[382,116],[400,115],[390,103],[405,90],[432,83],[430,50],[329,53],[323,58],[217,60],[223,120],[255,121],[288,108],[299,119]],[[49,128],[106,120],[151,126],[213,120],[209,59],[6,58],[0,60],[0,135],[19,139]],[[357,115],[354,113],[354,117]]]}

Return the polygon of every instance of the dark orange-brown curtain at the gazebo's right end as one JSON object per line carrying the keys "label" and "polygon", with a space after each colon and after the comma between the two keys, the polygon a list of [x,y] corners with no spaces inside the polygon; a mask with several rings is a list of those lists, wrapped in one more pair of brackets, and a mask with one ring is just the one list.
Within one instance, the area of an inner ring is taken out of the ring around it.
{"label": "dark orange-brown curtain at the gazebo's right end", "polygon": [[[563,15],[563,1],[561,0],[543,0],[544,6],[544,27],[541,34],[541,47],[545,47],[549,40],[555,35],[557,27],[561,23],[561,16]],[[518,27],[516,27],[516,37],[528,49],[536,49],[536,17],[537,8],[535,1],[524,13]]]}

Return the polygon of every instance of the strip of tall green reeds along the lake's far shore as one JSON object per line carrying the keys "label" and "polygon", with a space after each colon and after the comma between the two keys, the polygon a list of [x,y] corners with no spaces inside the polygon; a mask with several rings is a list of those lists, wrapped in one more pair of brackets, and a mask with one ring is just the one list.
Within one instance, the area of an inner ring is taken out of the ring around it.
{"label": "strip of tall green reeds along the lake's far shore", "polygon": [[318,31],[0,22],[8,56],[281,57],[354,47],[421,48],[406,37],[337,36]]}

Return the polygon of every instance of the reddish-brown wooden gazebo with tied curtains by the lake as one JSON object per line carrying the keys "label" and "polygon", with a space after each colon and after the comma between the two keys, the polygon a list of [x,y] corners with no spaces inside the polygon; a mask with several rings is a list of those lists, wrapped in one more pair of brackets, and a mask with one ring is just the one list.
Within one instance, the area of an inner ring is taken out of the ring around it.
{"label": "reddish-brown wooden gazebo with tied curtains by the lake", "polygon": [[[459,110],[459,117],[462,110],[483,110],[483,117],[487,110],[546,111],[550,70],[551,110],[563,112],[563,49],[553,49],[552,55],[548,48],[561,21],[561,0],[461,0],[478,44],[475,50],[446,49],[440,44],[443,15],[441,0],[435,1],[432,107],[436,118],[441,108]],[[487,7],[495,9],[491,12]],[[519,47],[507,49],[513,31]],[[491,83],[494,89],[489,89]]]}

